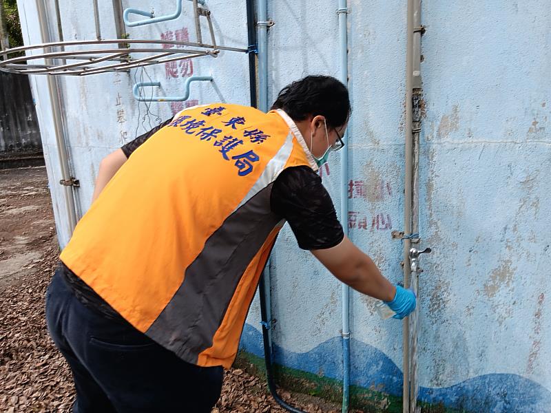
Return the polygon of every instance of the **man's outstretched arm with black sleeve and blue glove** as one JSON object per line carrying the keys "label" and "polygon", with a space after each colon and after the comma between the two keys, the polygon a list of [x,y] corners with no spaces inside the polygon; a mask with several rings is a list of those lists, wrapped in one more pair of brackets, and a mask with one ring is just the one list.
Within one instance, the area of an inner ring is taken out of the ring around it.
{"label": "man's outstretched arm with black sleeve and blue glove", "polygon": [[311,251],[331,273],[360,293],[382,299],[402,319],[415,309],[415,295],[393,286],[368,255],[344,236],[331,196],[307,167],[280,173],[271,193],[272,211],[289,222],[298,246]]}

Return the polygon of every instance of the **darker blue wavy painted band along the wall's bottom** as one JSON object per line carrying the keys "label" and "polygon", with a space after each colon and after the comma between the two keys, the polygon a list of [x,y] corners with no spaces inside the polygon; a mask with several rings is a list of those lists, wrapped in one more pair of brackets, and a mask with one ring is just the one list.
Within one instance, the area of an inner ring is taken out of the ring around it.
{"label": "darker blue wavy painted band along the wall's bottom", "polygon": [[[262,335],[245,324],[242,350],[264,357]],[[289,368],[342,379],[340,337],[304,353],[275,345],[276,363]],[[402,396],[402,370],[384,352],[362,341],[351,341],[351,383],[362,388]],[[551,392],[517,374],[484,374],[446,388],[420,388],[419,399],[474,413],[551,413]]]}

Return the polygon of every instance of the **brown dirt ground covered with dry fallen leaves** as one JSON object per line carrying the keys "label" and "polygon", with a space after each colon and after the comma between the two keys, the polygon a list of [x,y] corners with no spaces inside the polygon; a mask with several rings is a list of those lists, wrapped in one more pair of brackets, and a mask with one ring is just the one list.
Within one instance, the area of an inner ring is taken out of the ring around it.
{"label": "brown dirt ground covered with dry fallen leaves", "polygon": [[[0,170],[0,412],[71,411],[70,370],[44,320],[58,254],[45,168]],[[340,412],[339,405],[311,396],[280,393],[304,412]],[[285,410],[262,379],[231,369],[215,412]]]}

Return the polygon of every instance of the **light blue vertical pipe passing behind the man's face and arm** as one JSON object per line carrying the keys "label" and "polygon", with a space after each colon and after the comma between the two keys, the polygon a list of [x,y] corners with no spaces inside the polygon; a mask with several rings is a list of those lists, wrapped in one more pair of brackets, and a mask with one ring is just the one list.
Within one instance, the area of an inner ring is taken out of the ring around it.
{"label": "light blue vertical pipe passing behind the man's face and arm", "polygon": [[[348,86],[348,28],[346,0],[338,0],[337,14],[339,17],[339,61],[340,81]],[[347,129],[348,130],[348,129]],[[348,141],[348,131],[344,134]],[[348,146],[340,151],[340,218],[343,222],[344,235],[348,236],[349,219],[349,156]],[[342,412],[349,411],[350,405],[350,287],[342,284]]]}

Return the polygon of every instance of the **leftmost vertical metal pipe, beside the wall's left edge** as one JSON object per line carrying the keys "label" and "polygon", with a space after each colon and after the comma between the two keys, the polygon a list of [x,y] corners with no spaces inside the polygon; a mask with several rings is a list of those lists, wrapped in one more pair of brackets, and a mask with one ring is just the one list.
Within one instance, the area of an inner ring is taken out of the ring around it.
{"label": "leftmost vertical metal pipe, beside the wall's left edge", "polygon": [[[48,15],[46,14],[45,0],[37,0],[37,12],[39,17],[40,32],[42,41],[45,43],[50,42],[50,32],[48,31]],[[47,65],[52,64],[51,61],[46,60]],[[57,79],[54,76],[48,76],[48,93],[50,94],[50,104],[52,105],[52,115],[54,120],[54,133],[56,136],[57,153],[59,156],[59,163],[61,165],[62,182],[71,182],[73,180],[69,162],[67,160],[67,143],[65,141],[65,134],[63,131],[63,119],[61,117],[61,102],[59,97],[59,87],[57,85]],[[65,209],[67,209],[68,224],[70,233],[74,231],[76,226],[76,209],[74,202],[73,189],[70,186],[63,185],[63,194],[65,198]]]}

